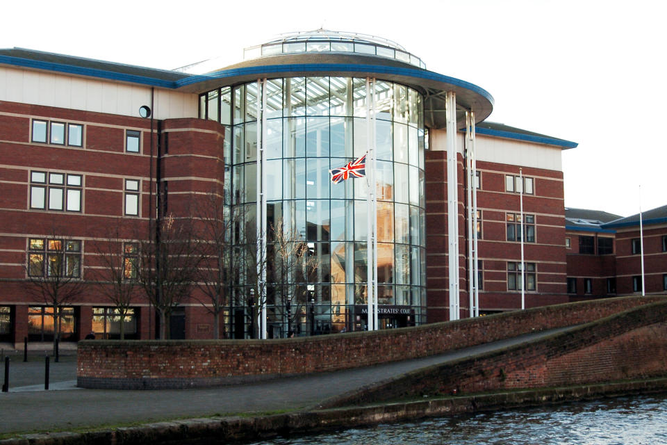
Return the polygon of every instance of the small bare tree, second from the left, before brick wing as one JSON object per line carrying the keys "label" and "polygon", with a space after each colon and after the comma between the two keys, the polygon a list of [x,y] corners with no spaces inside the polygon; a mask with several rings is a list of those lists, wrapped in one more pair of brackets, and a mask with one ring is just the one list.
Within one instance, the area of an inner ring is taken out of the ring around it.
{"label": "small bare tree, second from the left, before brick wing", "polygon": [[96,283],[101,293],[115,307],[115,317],[120,318],[120,339],[125,339],[125,318],[139,288],[140,243],[122,238],[120,226],[102,242],[94,245],[102,266]]}

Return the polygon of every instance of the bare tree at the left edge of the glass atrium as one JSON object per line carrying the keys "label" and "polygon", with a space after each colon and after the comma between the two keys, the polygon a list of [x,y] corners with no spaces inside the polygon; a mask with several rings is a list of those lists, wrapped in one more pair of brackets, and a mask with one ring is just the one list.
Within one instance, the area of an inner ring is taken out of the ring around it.
{"label": "bare tree at the left edge of the glass atrium", "polygon": [[[240,217],[238,211],[231,214],[224,206],[223,197],[215,191],[197,201],[197,237],[199,257],[197,287],[201,297],[195,299],[213,316],[213,338],[220,338],[220,314],[229,304],[231,296],[229,266],[232,252],[233,220]],[[238,209],[238,207],[237,207]]]}

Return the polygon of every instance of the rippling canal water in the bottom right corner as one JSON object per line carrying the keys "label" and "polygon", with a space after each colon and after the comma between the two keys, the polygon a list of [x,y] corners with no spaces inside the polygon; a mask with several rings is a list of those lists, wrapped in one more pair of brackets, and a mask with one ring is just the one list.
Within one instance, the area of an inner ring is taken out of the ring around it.
{"label": "rippling canal water in the bottom right corner", "polygon": [[423,419],[256,444],[664,445],[667,395]]}

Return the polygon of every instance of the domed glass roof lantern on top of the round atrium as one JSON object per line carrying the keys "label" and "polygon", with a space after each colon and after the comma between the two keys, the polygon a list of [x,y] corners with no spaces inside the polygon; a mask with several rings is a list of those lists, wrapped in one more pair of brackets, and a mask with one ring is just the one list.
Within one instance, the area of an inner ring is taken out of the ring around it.
{"label": "domed glass roof lantern on top of the round atrium", "polygon": [[299,53],[356,53],[393,58],[426,69],[426,64],[400,44],[374,35],[318,29],[281,34],[279,38],[243,50],[243,59]]}

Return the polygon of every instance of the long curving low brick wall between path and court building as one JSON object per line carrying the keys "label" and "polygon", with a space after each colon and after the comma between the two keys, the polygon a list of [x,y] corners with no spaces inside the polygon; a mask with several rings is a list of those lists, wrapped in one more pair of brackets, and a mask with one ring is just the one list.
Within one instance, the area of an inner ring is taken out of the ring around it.
{"label": "long curving low brick wall between path and court building", "polygon": [[661,297],[610,298],[377,332],[273,340],[80,341],[80,387],[186,388],[336,371],[588,323]]}

